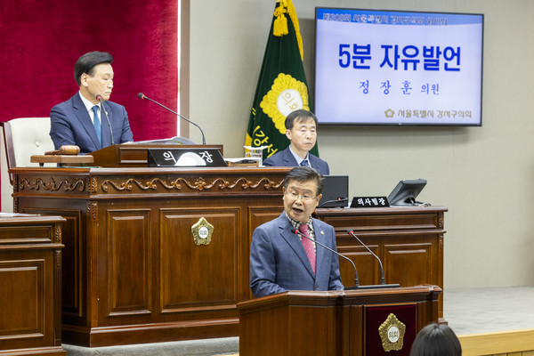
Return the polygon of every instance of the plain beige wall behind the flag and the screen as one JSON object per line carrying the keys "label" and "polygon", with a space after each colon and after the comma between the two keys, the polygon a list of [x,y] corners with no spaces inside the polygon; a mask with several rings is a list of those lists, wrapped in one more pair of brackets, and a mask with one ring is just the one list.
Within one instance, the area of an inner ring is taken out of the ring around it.
{"label": "plain beige wall behind the flag and the screen", "polygon": [[[332,174],[351,176],[351,196],[428,180],[420,200],[449,208],[445,287],[534,285],[534,1],[293,2],[311,89],[315,6],[484,13],[482,127],[320,126],[320,156]],[[243,155],[273,8],[274,0],[191,0],[190,117],[226,157]]]}

